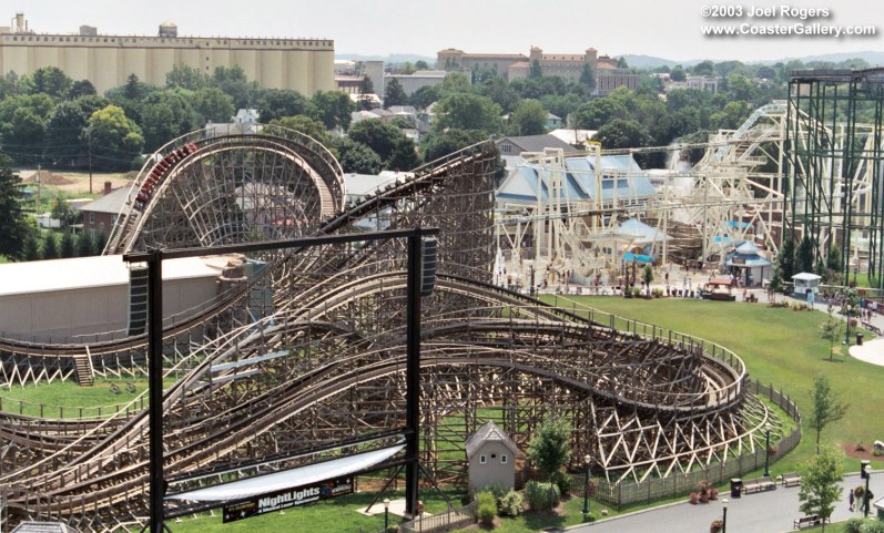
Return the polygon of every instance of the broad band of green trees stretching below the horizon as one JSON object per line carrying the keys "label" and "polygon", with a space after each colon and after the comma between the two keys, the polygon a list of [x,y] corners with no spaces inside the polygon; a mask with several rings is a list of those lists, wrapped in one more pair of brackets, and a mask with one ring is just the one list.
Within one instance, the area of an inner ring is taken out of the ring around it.
{"label": "broad band of green trees stretching below the horizon", "polygon": [[[22,76],[10,72],[0,78],[0,151],[10,157],[0,167],[139,168],[143,153],[209,122],[228,122],[244,107],[256,109],[264,123],[302,131],[329,146],[348,173],[407,171],[492,136],[545,133],[550,113],[570,127],[597,130],[595,139],[608,148],[703,142],[718,129],[738,127],[758,106],[785,98],[792,70],[867,64],[860,60],[774,65],[704,61],[671,70],[633,69],[640,79],[636,91],[620,88],[601,98],[593,95],[591,69],[567,82],[545,75],[539,64],[534,66],[527,79],[511,82],[492,68],[476,69],[469,73],[471,80],[453,73],[411,95],[392,80],[385,92],[387,107],[407,104],[425,115],[431,107],[433,121],[419,143],[405,133],[416,125],[410,119],[350,123],[357,104],[347,94],[319,91],[307,98],[296,91],[263,89],[238,66],[217,68],[209,74],[177,65],[162,88],[131,75],[104,95],[96,94],[89,81],[74,81],[55,68]],[[621,66],[628,65],[622,62]],[[400,71],[411,69],[406,65]],[[680,89],[663,96],[663,75],[679,80],[688,74],[721,76],[719,92]],[[362,91],[373,91],[367,79]],[[638,158],[644,166],[660,166],[662,157]],[[18,187],[11,174],[0,180],[0,206],[20,205]],[[0,237],[0,254],[26,256],[28,232],[11,225],[21,216],[20,209],[2,211],[0,222],[6,222],[7,230]]]}

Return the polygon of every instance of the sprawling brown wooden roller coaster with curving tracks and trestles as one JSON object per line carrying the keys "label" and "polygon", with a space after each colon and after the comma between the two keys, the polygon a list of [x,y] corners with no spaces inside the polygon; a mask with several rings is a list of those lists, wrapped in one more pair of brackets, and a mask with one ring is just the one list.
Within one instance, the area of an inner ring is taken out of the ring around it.
{"label": "sprawling brown wooden roller coaster with curving tracks and trestles", "polygon": [[[134,195],[108,250],[281,235],[274,232],[439,227],[439,277],[421,306],[420,361],[420,455],[435,479],[464,480],[466,438],[488,418],[520,445],[545,419],[568,420],[573,457],[591,455],[598,475],[612,481],[685,472],[763,445],[762,428],[776,421],[745,390],[746,371],[733,353],[659,328],[623,331],[613,317],[566,311],[490,284],[491,143],[346,204],[327,152],[303,136],[271,133],[194,133],[164,147],[139,176],[143,202]],[[170,493],[398,439],[405,257],[396,243],[262,256],[273,293],[266,312],[243,312],[258,283],[244,279],[202,315],[169,325]],[[138,373],[145,353],[143,336],[100,346],[0,342],[7,386],[73,379],[83,359],[96,373]],[[139,398],[89,419],[0,413],[0,438],[13,450],[0,455],[13,521],[52,517],[95,532],[143,525],[149,434],[136,406]],[[167,516],[207,506],[166,505]]]}

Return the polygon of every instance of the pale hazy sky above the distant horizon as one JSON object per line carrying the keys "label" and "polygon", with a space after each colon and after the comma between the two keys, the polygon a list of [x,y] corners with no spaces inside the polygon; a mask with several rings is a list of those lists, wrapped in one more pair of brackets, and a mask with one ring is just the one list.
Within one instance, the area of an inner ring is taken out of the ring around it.
{"label": "pale hazy sky above the distant horizon", "polygon": [[[160,23],[171,20],[182,37],[313,37],[333,39],[338,54],[430,58],[446,48],[527,55],[532,45],[545,53],[595,48],[600,54],[675,61],[884,52],[884,8],[876,0],[827,1],[3,0],[7,19],[0,25],[21,11],[39,33],[73,33],[89,24],[105,34],[155,35]],[[810,10],[817,10],[815,17]],[[734,25],[746,33],[709,37],[704,25]],[[875,34],[843,34],[855,25],[872,25]],[[842,35],[759,34],[786,30],[841,30]]]}

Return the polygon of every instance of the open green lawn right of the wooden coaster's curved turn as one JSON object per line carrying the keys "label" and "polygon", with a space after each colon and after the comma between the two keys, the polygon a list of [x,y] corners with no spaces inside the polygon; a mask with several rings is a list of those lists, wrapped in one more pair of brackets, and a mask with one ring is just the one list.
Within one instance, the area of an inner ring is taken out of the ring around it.
{"label": "open green lawn right of the wooden coaster's curved turn", "polygon": [[[823,431],[823,443],[863,443],[872,445],[884,435],[884,367],[836,355],[829,361],[829,344],[820,338],[819,327],[825,315],[819,311],[793,311],[762,304],[692,299],[627,299],[616,297],[559,298],[562,307],[571,300],[614,315],[631,318],[702,339],[718,342],[735,352],[754,380],[786,392],[802,412],[811,409],[813,377],[829,376],[832,387],[849,403],[846,416]],[[867,338],[870,336],[866,336]],[[843,349],[843,347],[841,347]],[[815,452],[815,433],[804,423],[799,447],[781,461],[780,468],[793,470],[797,462]],[[875,468],[882,468],[878,462]],[[858,461],[846,460],[849,471],[858,470]]]}

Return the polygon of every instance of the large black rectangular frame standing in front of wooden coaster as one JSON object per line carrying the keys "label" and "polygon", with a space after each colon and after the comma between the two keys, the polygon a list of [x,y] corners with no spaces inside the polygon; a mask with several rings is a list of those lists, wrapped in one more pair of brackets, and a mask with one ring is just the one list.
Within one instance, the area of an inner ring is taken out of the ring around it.
{"label": "large black rectangular frame standing in front of wooden coaster", "polygon": [[[418,437],[420,428],[420,298],[433,290],[436,275],[436,236],[438,228],[396,229],[353,235],[335,235],[287,240],[221,245],[186,249],[151,249],[126,254],[128,264],[148,265],[148,350],[149,350],[149,427],[150,427],[150,533],[169,531],[163,523],[163,303],[162,264],[165,259],[200,257],[223,254],[248,254],[284,248],[308,248],[322,245],[365,243],[373,240],[407,239],[407,300],[406,300],[406,513],[414,515],[418,499]],[[426,240],[424,237],[429,237]]]}

